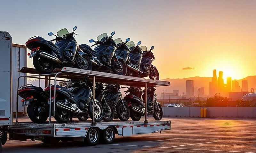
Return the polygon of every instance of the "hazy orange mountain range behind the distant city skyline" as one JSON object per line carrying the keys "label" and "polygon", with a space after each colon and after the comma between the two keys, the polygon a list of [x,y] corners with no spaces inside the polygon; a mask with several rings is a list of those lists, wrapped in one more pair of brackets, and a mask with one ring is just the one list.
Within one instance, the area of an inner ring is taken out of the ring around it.
{"label": "hazy orange mountain range behind the distant city skyline", "polygon": [[[162,90],[166,90],[166,93],[172,93],[173,90],[179,90],[179,95],[186,95],[186,80],[194,80],[194,94],[198,95],[197,87],[204,87],[204,94],[209,95],[209,82],[212,81],[212,77],[188,77],[183,79],[164,79],[163,81],[170,81],[171,86],[157,87],[156,94],[160,97]],[[251,91],[251,88],[256,88],[256,76],[248,76],[243,79],[237,80],[239,86],[242,88],[242,80],[248,81],[248,91]]]}

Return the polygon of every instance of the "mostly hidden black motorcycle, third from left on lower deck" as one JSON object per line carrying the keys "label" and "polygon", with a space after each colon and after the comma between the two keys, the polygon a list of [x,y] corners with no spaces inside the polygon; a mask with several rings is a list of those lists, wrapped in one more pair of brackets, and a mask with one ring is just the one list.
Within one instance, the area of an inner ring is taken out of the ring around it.
{"label": "mostly hidden black motorcycle, third from left on lower deck", "polygon": [[103,120],[108,122],[114,119],[114,106],[112,105],[111,101],[107,101],[105,98],[103,88],[103,84],[96,84],[95,98],[101,103],[103,108]]}

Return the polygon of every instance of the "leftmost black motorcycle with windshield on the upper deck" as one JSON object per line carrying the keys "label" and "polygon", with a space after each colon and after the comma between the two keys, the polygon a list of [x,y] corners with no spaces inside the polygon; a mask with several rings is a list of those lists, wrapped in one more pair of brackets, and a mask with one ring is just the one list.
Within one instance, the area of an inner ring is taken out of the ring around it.
{"label": "leftmost black motorcycle with windshield on the upper deck", "polygon": [[[49,74],[53,69],[63,66],[92,70],[92,62],[77,45],[75,30],[76,26],[72,33],[68,33],[66,28],[57,32],[57,35],[48,33],[49,36],[56,36],[51,41],[39,36],[28,39],[26,46],[31,50],[29,58],[33,58],[34,67],[40,74]],[[54,40],[55,44],[52,43]]]}

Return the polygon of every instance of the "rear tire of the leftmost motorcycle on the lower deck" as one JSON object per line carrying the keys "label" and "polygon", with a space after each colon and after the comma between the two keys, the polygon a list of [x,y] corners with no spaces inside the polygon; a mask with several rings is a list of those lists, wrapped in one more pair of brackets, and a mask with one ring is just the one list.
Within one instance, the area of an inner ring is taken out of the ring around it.
{"label": "rear tire of the leftmost motorcycle on the lower deck", "polygon": [[34,123],[44,123],[48,116],[47,113],[39,113],[40,103],[32,102],[27,107],[29,119]]}

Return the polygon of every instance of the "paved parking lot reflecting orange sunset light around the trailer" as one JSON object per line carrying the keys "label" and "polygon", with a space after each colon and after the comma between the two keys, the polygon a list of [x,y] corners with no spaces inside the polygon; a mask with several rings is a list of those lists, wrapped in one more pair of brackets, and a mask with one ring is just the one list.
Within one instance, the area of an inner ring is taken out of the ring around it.
{"label": "paved parking lot reflecting orange sunset light around the trailer", "polygon": [[40,141],[7,141],[3,153],[98,153],[98,152],[256,152],[256,120],[226,118],[164,118],[172,130],[148,135],[118,137],[113,144],[94,147],[80,143],[45,145]]}

